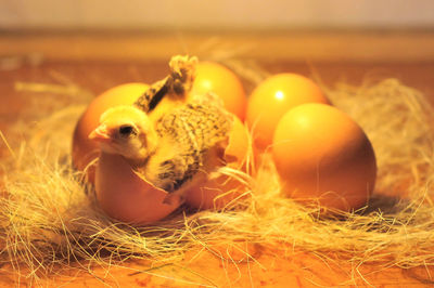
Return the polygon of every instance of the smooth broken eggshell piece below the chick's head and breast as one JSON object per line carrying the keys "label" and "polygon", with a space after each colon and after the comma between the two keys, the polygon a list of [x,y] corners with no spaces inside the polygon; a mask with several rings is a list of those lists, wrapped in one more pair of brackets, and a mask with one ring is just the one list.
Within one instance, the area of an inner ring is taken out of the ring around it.
{"label": "smooth broken eggshell piece below the chick's head and breast", "polygon": [[106,153],[97,166],[95,193],[105,213],[131,224],[158,221],[181,204],[179,198],[165,202],[167,192],[140,178],[122,156]]}

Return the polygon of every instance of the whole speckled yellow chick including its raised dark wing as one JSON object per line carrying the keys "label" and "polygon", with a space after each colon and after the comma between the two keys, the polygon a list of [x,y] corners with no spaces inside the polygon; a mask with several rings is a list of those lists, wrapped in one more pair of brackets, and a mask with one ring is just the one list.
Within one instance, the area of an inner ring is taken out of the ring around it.
{"label": "whole speckled yellow chick including its raised dark wing", "polygon": [[124,156],[137,173],[178,196],[215,169],[216,159],[225,165],[222,154],[233,123],[233,116],[213,95],[187,101],[196,63],[188,60],[178,64],[191,66],[182,69],[181,64],[179,75],[171,66],[164,84],[155,84],[136,105],[105,112],[90,134],[102,152]]}

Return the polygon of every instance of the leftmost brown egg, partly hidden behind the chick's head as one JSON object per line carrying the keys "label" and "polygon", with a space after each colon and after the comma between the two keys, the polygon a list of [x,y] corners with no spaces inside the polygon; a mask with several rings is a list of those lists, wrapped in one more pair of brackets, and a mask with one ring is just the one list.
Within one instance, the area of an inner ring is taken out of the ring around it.
{"label": "leftmost brown egg, partly hidden behind the chick's head", "polygon": [[[126,83],[114,87],[95,97],[78,120],[73,136],[73,165],[84,171],[99,155],[98,143],[88,139],[106,109],[117,105],[131,105],[149,88],[144,83]],[[94,167],[87,170],[88,181],[94,181]]]}

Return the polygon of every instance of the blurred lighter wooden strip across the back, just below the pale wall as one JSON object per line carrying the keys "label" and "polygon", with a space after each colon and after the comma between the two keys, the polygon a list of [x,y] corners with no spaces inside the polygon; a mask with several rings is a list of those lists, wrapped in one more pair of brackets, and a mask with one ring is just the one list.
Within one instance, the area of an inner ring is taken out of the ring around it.
{"label": "blurred lighter wooden strip across the back, just below the pale wall", "polygon": [[431,31],[270,31],[263,34],[3,34],[0,53],[38,53],[55,61],[167,61],[179,53],[235,54],[257,61],[427,62]]}

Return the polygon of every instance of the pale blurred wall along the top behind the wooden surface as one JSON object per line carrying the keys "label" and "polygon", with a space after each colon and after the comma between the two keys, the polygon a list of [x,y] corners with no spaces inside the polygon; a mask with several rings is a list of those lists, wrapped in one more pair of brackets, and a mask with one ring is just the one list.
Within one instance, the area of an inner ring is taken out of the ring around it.
{"label": "pale blurred wall along the top behind the wooden surface", "polygon": [[0,0],[0,29],[433,28],[434,0]]}

